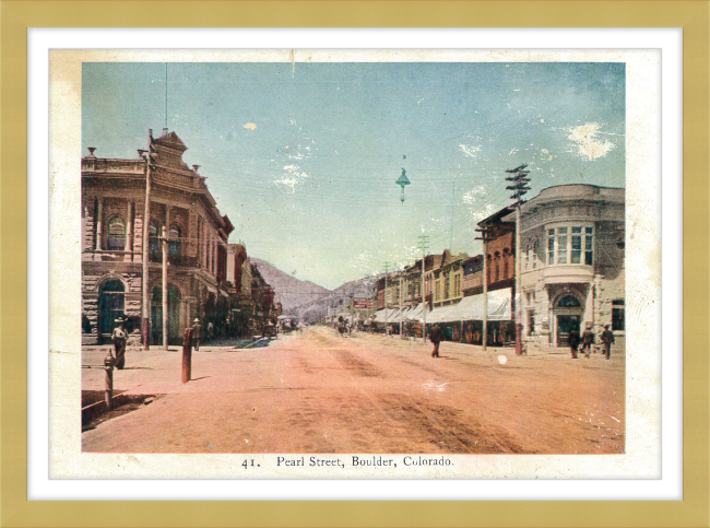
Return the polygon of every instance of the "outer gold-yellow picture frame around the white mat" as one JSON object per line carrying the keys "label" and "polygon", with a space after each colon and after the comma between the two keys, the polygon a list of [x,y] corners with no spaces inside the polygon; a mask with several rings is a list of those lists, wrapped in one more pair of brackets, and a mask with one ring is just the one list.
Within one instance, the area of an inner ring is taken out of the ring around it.
{"label": "outer gold-yellow picture frame around the white mat", "polygon": [[[709,0],[1,0],[0,526],[709,526]],[[28,502],[27,28],[107,26],[683,27],[683,501]]]}

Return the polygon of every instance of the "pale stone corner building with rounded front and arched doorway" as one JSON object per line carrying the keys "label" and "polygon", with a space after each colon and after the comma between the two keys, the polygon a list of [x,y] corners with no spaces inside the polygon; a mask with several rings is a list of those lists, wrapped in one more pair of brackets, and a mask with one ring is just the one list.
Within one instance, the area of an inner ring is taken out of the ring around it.
{"label": "pale stone corner building with rounded front and arched doorway", "polygon": [[[514,222],[514,214],[504,219]],[[523,339],[567,347],[611,325],[624,343],[625,189],[561,185],[521,208]]]}

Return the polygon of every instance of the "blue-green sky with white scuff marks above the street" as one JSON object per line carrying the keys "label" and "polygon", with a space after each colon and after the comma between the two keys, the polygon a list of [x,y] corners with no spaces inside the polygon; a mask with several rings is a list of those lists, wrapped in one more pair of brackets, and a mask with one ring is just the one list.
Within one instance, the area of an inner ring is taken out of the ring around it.
{"label": "blue-green sky with white scuff marks above the street", "polygon": [[[165,120],[165,63],[84,63],[83,152],[135,157]],[[167,127],[235,225],[229,242],[332,289],[412,262],[421,234],[429,253],[478,254],[475,222],[510,202],[505,169],[522,163],[531,197],[624,187],[625,67],[169,63]]]}

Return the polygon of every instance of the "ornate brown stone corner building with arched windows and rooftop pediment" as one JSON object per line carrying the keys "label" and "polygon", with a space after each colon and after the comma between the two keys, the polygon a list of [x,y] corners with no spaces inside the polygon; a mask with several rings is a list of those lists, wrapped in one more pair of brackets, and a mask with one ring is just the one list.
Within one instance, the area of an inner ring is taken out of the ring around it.
{"label": "ornate brown stone corner building with arched windows and rooftop pediment", "polygon": [[110,342],[118,316],[129,319],[129,344],[140,342],[143,245],[149,254],[150,342],[162,343],[162,248],[168,243],[168,341],[181,342],[194,317],[203,325],[229,313],[227,238],[234,231],[210,193],[199,165],[182,162],[187,146],[175,132],[149,132],[151,162],[149,239],[143,239],[146,151],[138,159],[82,157],[83,344]]}

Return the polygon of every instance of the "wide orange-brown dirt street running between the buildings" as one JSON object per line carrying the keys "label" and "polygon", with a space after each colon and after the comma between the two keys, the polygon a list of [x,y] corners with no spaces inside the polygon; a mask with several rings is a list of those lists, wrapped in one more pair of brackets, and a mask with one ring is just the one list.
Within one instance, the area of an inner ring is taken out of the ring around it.
{"label": "wide orange-brown dirt street running between the buildings", "polygon": [[[419,341],[311,327],[251,349],[129,351],[116,388],[163,395],[82,434],[84,451],[612,454],[624,451],[623,353]],[[102,350],[84,363],[103,361]],[[505,357],[504,357],[505,356]],[[103,372],[83,373],[100,389]]]}

